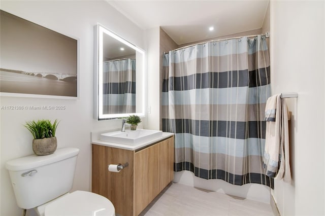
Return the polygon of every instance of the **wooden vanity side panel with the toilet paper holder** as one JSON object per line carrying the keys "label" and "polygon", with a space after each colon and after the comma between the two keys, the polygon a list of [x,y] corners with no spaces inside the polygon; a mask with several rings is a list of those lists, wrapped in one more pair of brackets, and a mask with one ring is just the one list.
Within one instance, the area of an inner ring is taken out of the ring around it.
{"label": "wooden vanity side panel with the toilet paper holder", "polygon": [[[108,198],[116,214],[134,215],[134,151],[92,145],[92,192]],[[126,163],[120,172],[108,171],[109,164]]]}

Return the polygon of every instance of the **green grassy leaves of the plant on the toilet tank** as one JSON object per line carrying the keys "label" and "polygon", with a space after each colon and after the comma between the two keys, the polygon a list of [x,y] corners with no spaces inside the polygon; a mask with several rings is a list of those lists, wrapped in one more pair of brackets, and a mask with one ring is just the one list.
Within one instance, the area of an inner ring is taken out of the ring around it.
{"label": "green grassy leaves of the plant on the toilet tank", "polygon": [[58,125],[58,121],[55,119],[53,124],[50,120],[38,120],[26,122],[24,125],[32,134],[34,139],[49,138],[55,136],[55,131]]}

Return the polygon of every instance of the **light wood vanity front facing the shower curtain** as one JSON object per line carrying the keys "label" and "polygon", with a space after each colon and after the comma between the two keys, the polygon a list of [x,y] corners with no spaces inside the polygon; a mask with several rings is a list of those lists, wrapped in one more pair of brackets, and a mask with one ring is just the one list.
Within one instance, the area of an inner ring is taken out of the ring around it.
{"label": "light wood vanity front facing the shower curtain", "polygon": [[174,138],[135,153],[135,215],[173,180]]}

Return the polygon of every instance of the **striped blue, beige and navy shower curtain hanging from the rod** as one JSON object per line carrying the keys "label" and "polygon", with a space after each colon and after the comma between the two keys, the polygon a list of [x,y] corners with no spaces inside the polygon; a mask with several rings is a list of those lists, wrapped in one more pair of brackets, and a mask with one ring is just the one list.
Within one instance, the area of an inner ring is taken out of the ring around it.
{"label": "striped blue, beige and navy shower curtain hanging from the rod", "polygon": [[266,39],[257,35],[164,55],[163,131],[175,133],[174,170],[273,188],[265,174],[264,110],[271,96]]}

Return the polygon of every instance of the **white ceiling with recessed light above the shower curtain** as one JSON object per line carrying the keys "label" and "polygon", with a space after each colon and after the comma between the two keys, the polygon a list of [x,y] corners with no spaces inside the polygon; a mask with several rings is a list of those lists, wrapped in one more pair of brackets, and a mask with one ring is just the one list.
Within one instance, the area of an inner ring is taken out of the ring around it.
{"label": "white ceiling with recessed light above the shower curtain", "polygon": [[[178,44],[261,28],[269,0],[107,0],[142,29],[160,26]],[[214,30],[209,31],[209,27]]]}

